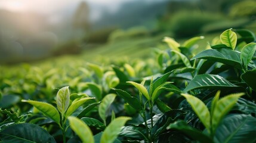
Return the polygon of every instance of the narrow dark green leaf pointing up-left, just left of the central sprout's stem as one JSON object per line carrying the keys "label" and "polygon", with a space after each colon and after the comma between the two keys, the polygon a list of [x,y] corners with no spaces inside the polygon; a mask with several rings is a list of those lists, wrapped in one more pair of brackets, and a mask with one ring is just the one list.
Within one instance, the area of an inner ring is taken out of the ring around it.
{"label": "narrow dark green leaf pointing up-left, just left of the central sprout's stem", "polygon": [[126,102],[128,102],[129,105],[131,105],[131,107],[133,107],[135,110],[137,111],[140,111],[141,109],[141,106],[140,106],[140,102],[138,101],[137,98],[135,97],[132,97],[130,94],[128,94],[127,92],[125,91],[122,91],[121,89],[115,89],[115,88],[112,88],[114,91],[116,91],[116,93],[124,98],[124,100]]}

